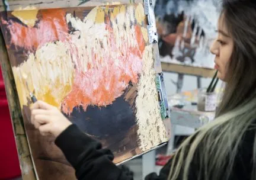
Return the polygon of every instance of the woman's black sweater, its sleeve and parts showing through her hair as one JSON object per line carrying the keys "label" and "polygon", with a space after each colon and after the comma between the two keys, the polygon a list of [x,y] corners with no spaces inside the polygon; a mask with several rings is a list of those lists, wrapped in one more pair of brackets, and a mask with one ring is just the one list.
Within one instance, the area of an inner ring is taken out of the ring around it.
{"label": "woman's black sweater, its sleeve and parts showing through her hair", "polygon": [[[250,179],[252,164],[252,148],[254,143],[254,132],[245,136],[242,148],[235,160],[235,166],[231,178],[229,179]],[[71,163],[76,171],[79,180],[132,180],[133,177],[114,165],[113,153],[108,149],[101,149],[101,143],[91,139],[79,128],[72,124],[63,131],[55,141],[62,150],[66,159]],[[192,162],[193,168],[188,179],[197,179],[197,162]],[[146,176],[146,180],[167,179],[171,160],[161,169],[159,175],[151,173]],[[181,179],[181,178],[179,178]]]}

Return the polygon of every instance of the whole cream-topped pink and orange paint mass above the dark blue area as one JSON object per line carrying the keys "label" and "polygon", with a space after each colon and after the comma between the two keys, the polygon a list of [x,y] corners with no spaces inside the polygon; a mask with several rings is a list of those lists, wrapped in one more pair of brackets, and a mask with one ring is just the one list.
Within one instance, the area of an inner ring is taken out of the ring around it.
{"label": "whole cream-topped pink and orange paint mass above the dark blue area", "polygon": [[68,41],[76,73],[63,112],[111,104],[130,81],[137,83],[145,39],[134,14],[133,6],[120,5],[113,11],[97,7],[84,20],[66,16],[76,30]]}

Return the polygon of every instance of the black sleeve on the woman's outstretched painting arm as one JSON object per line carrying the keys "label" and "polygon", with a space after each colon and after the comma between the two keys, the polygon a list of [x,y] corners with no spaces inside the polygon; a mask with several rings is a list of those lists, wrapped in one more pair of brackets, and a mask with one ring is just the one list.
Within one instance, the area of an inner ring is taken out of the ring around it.
{"label": "black sleeve on the woman's outstretched painting arm", "polygon": [[76,171],[79,180],[132,180],[133,177],[118,168],[113,153],[102,149],[101,143],[72,124],[55,140],[66,159]]}

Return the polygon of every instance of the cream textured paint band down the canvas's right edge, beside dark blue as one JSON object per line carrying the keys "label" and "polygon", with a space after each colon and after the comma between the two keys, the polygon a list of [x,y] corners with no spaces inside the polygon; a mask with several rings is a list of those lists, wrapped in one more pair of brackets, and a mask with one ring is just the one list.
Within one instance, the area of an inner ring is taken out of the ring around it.
{"label": "cream textured paint band down the canvas's right edge, beside dark blue", "polygon": [[140,75],[136,98],[137,132],[140,149],[143,151],[168,140],[158,104],[153,65],[153,50],[152,46],[149,45],[146,46],[143,53],[143,72]]}

